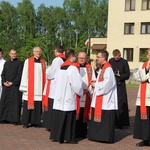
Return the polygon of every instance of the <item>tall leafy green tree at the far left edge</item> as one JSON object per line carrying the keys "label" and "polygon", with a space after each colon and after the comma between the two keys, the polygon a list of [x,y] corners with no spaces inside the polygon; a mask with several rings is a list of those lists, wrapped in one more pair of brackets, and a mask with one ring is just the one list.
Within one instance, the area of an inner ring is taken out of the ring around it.
{"label": "tall leafy green tree at the far left edge", "polygon": [[17,12],[8,2],[0,3],[0,47],[4,50],[4,56],[8,59],[8,51],[12,48],[18,48],[17,34]]}

